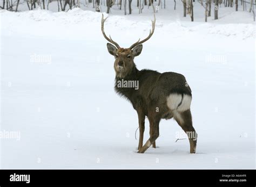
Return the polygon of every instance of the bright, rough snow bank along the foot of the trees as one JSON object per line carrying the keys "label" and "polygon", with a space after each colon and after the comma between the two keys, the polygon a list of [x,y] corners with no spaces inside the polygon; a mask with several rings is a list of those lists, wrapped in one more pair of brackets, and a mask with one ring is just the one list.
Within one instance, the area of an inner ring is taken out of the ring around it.
{"label": "bright, rough snow bank along the foot of the trees", "polygon": [[[25,12],[0,11],[1,27],[3,34],[31,34],[31,35],[51,35],[52,37],[62,37],[60,32],[66,33],[63,37],[81,38],[86,30],[99,30],[102,13],[84,11],[79,8],[69,10],[68,12],[51,12],[47,10],[33,10]],[[234,13],[232,14],[234,16]],[[240,13],[238,13],[238,16]],[[109,16],[105,22],[106,27],[112,30],[134,32],[137,30],[149,32],[151,21],[132,20],[125,16],[112,16],[104,13],[104,17]],[[235,19],[235,17],[233,17]],[[35,27],[35,23],[38,22]],[[47,25],[47,26],[46,26]],[[159,28],[159,29],[158,29]],[[113,34],[120,34],[118,31]],[[139,31],[139,32],[140,32]],[[48,33],[50,32],[50,33]],[[71,35],[69,33],[76,32]],[[87,31],[88,32],[88,31]],[[161,20],[157,17],[156,32],[161,34],[172,34],[175,37],[184,37],[188,32],[199,32],[200,37],[208,34],[221,35],[223,37],[234,37],[238,39],[253,38],[255,36],[255,25],[253,24],[219,24],[219,23],[190,23],[179,20],[169,21]],[[82,34],[82,35],[79,35]],[[94,37],[97,37],[96,35]]]}

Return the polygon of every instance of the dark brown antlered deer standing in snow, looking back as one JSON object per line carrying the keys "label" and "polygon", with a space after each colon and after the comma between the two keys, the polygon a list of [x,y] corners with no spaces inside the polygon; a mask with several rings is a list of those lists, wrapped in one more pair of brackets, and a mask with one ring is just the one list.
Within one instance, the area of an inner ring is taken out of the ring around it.
{"label": "dark brown antlered deer standing in snow, looking back", "polygon": [[[156,148],[161,119],[177,121],[187,134],[190,142],[190,153],[196,153],[197,133],[192,125],[191,101],[192,91],[186,78],[178,73],[142,69],[138,70],[134,57],[142,53],[143,43],[149,40],[156,25],[156,16],[152,21],[152,30],[143,40],[138,40],[129,48],[120,47],[116,41],[107,37],[104,31],[105,20],[102,14],[101,30],[107,43],[107,51],[114,56],[114,71],[116,73],[114,90],[125,97],[137,111],[139,122],[139,145],[137,153],[144,153],[151,145]],[[138,89],[120,86],[120,81],[138,82]],[[150,124],[150,138],[143,145],[145,118]]]}

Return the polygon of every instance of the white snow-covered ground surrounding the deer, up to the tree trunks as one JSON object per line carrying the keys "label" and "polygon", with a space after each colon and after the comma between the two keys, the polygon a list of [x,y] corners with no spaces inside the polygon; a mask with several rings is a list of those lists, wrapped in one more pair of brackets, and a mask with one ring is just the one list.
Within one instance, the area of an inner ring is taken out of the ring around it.
{"label": "white snow-covered ground surrounding the deer, up to the tree trunks", "polygon": [[[186,76],[197,154],[189,154],[188,140],[176,142],[184,134],[172,119],[160,122],[156,149],[136,153],[137,113],[113,90],[101,13],[0,10],[1,132],[20,133],[20,140],[0,139],[1,168],[255,168],[252,15],[233,8],[204,23],[199,6],[201,18],[193,23],[182,17],[180,3],[179,13],[159,12],[153,37],[134,60],[138,69]],[[150,19],[147,9],[140,16],[109,15],[105,31],[129,47],[146,37]],[[147,120],[145,126],[144,142]]]}

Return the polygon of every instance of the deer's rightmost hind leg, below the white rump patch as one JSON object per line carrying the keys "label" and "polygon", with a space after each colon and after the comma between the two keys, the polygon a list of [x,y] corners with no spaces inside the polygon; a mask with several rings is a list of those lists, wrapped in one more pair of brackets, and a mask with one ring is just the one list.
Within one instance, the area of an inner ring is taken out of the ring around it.
{"label": "deer's rightmost hind leg, below the white rump patch", "polygon": [[197,133],[192,125],[192,116],[190,109],[183,112],[179,112],[176,110],[173,112],[173,117],[188,136],[188,140],[190,141],[190,153],[196,153]]}

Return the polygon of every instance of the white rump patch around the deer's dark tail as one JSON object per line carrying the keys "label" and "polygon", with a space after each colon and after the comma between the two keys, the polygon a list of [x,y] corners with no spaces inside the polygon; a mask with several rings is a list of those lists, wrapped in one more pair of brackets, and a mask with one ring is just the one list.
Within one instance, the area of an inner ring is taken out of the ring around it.
{"label": "white rump patch around the deer's dark tail", "polygon": [[171,110],[177,110],[178,112],[184,112],[190,109],[192,97],[190,95],[182,95],[178,93],[171,93],[167,97],[167,106]]}

